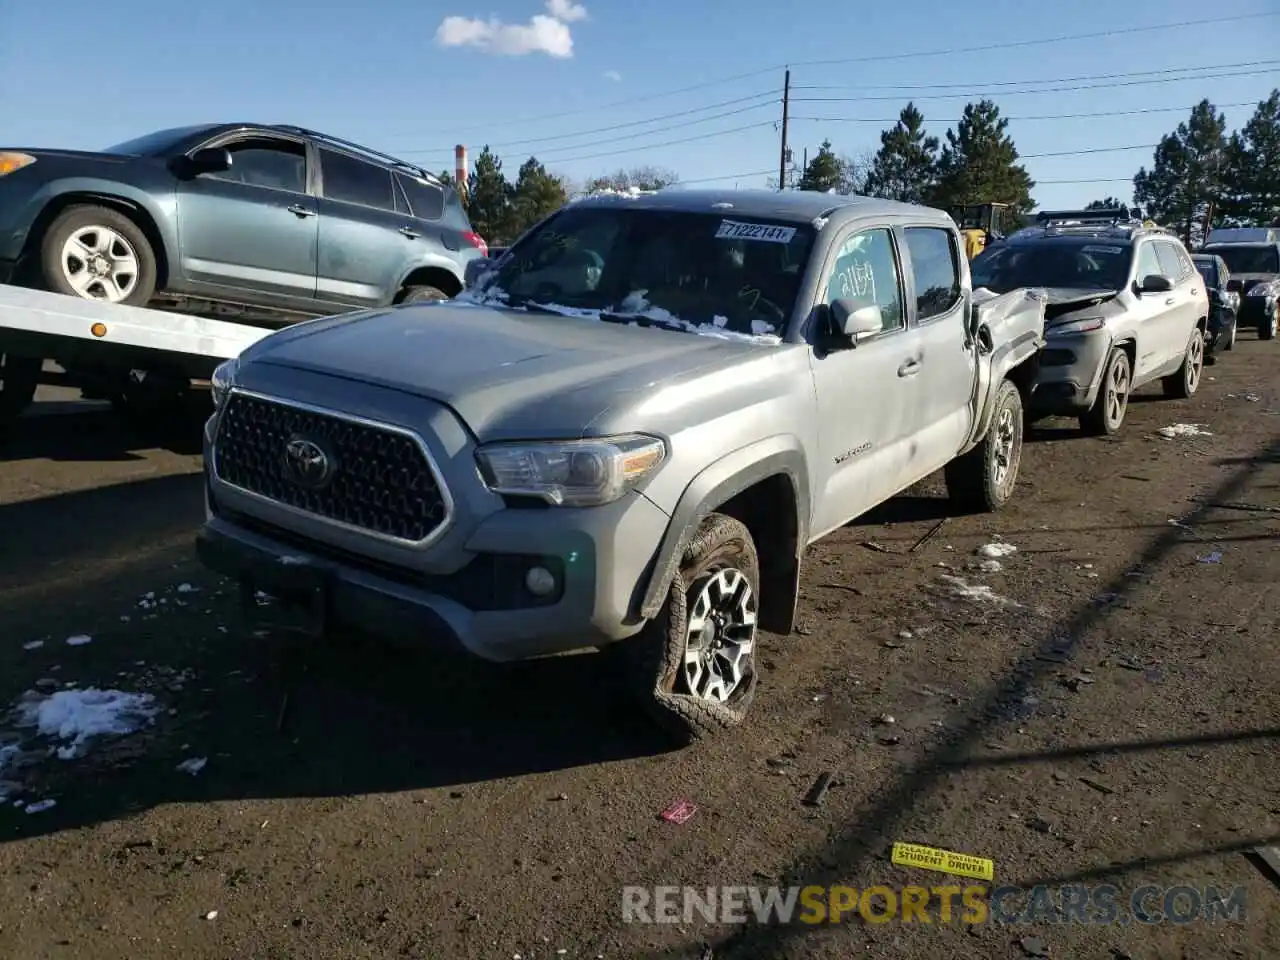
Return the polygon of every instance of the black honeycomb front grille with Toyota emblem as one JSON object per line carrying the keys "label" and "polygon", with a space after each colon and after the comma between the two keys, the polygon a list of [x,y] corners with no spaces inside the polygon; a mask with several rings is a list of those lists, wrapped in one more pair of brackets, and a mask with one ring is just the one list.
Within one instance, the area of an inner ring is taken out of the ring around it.
{"label": "black honeycomb front grille with Toyota emblem", "polygon": [[430,538],[449,513],[411,435],[253,394],[227,398],[214,472],[274,503],[408,543]]}

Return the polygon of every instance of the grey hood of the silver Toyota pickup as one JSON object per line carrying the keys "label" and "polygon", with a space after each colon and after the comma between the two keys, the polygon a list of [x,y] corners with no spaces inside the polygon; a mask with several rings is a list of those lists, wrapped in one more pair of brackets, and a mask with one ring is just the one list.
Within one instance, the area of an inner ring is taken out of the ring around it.
{"label": "grey hood of the silver Toyota pickup", "polygon": [[484,440],[582,435],[627,393],[758,358],[774,347],[457,302],[346,314],[241,355],[449,406]]}

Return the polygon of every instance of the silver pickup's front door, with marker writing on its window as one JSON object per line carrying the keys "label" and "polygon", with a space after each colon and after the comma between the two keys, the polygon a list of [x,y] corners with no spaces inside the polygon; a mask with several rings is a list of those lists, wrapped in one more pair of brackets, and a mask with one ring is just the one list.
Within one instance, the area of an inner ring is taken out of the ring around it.
{"label": "silver pickup's front door, with marker writing on its window", "polygon": [[920,451],[911,406],[920,351],[908,328],[901,256],[887,228],[850,229],[824,266],[822,302],[876,306],[882,329],[844,340],[810,330],[818,408],[820,495],[813,534],[847,524],[892,497],[913,474]]}

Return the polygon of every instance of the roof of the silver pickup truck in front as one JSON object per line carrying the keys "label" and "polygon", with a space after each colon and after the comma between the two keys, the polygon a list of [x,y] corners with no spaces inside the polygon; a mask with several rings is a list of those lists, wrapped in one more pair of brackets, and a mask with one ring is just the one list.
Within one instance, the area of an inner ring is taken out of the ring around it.
{"label": "roof of the silver pickup truck in front", "polygon": [[942,210],[900,204],[895,200],[819,193],[805,189],[660,189],[650,193],[594,195],[575,206],[628,206],[644,210],[719,212],[726,216],[760,216],[788,223],[812,223],[819,218],[910,216],[954,225]]}

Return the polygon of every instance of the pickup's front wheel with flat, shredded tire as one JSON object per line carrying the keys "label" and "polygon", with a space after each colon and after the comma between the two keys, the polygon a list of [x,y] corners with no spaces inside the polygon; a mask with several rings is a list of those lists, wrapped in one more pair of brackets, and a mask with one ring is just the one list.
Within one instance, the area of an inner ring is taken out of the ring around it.
{"label": "pickup's front wheel with flat, shredded tire", "polygon": [[686,744],[746,717],[758,681],[759,589],[751,534],[712,513],[685,548],[659,614],[622,641],[646,710]]}

